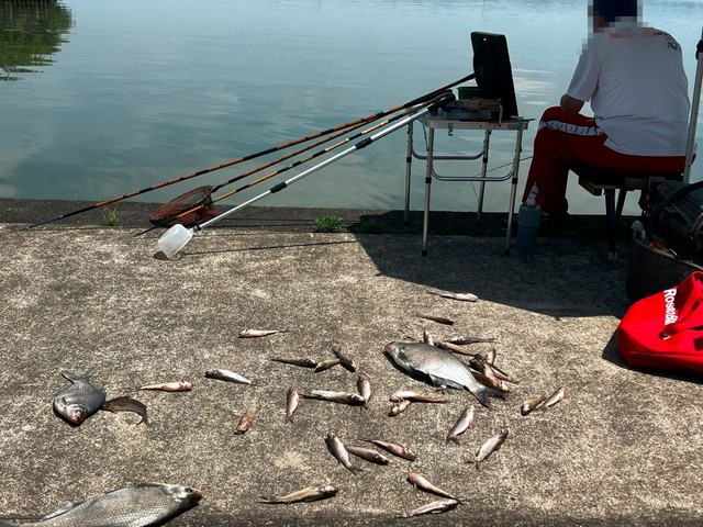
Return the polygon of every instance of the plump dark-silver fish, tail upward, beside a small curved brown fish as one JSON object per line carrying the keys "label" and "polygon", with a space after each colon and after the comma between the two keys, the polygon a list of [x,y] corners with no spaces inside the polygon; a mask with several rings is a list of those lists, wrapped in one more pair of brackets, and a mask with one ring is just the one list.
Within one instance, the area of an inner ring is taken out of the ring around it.
{"label": "plump dark-silver fish, tail upward, beside a small curved brown fish", "polygon": [[96,388],[90,383],[92,370],[87,370],[82,375],[71,371],[62,371],[69,386],[60,389],[54,395],[54,410],[72,425],[80,425],[83,421],[100,410],[105,402],[104,389]]}

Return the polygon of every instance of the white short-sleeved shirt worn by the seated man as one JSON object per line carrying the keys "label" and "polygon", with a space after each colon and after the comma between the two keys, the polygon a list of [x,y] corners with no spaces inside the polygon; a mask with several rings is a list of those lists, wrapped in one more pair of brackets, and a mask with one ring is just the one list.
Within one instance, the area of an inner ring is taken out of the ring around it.
{"label": "white short-sleeved shirt worn by the seated man", "polygon": [[631,23],[591,34],[567,94],[591,101],[605,145],[635,156],[684,156],[689,85],[681,46]]}

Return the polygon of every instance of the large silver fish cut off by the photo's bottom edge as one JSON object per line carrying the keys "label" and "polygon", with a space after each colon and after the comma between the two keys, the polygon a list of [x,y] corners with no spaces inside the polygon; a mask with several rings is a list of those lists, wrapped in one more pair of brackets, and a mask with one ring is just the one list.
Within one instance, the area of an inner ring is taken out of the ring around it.
{"label": "large silver fish cut off by the photo's bottom edge", "polygon": [[202,498],[197,489],[142,483],[77,502],[23,527],[145,527],[174,518]]}

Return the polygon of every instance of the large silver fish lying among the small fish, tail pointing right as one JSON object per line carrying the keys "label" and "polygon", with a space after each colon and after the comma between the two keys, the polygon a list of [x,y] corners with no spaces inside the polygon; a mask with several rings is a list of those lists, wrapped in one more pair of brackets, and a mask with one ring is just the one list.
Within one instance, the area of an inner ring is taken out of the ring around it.
{"label": "large silver fish lying among the small fish, tail pointing right", "polygon": [[401,369],[435,386],[468,390],[483,406],[489,397],[503,394],[479,383],[468,366],[451,351],[423,343],[389,343],[384,352]]}

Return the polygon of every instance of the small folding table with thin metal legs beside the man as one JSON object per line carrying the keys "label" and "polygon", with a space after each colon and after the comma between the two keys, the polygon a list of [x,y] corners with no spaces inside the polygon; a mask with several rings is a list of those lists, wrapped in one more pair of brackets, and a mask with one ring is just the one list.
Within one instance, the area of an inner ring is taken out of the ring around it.
{"label": "small folding table with thin metal legs beside the man", "polygon": [[[496,121],[464,121],[458,119],[446,119],[438,115],[425,115],[419,120],[422,125],[427,130],[427,153],[422,155],[415,152],[413,145],[413,125],[411,122],[408,125],[408,155],[405,157],[405,214],[404,221],[408,223],[408,215],[410,211],[410,180],[412,172],[412,158],[426,160],[425,172],[425,205],[424,217],[422,226],[422,255],[427,255],[427,228],[429,225],[429,195],[432,179],[435,178],[439,181],[480,181],[481,189],[479,193],[479,203],[477,212],[477,221],[480,221],[481,213],[483,211],[483,194],[486,191],[486,183],[493,181],[507,181],[511,180],[510,204],[507,210],[507,232],[505,234],[505,255],[510,255],[511,235],[513,226],[513,215],[515,210],[515,197],[517,193],[517,176],[520,170],[520,155],[522,153],[523,132],[527,130],[529,125],[528,119],[515,117],[511,120]],[[482,130],[483,148],[476,155],[456,155],[456,156],[435,156],[435,130],[448,130],[449,135],[454,135],[455,130]],[[515,154],[513,156],[513,162],[511,170],[503,176],[488,176],[488,160],[489,148],[491,142],[491,133],[493,131],[510,131],[515,132]],[[481,159],[481,172],[477,176],[442,176],[435,170],[435,161],[469,161]]]}

